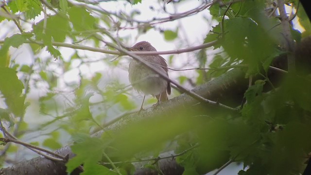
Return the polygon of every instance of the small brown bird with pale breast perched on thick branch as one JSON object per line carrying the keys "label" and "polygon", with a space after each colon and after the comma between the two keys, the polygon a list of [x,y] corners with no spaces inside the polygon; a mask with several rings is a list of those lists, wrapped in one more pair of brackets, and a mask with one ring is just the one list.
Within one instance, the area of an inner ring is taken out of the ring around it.
{"label": "small brown bird with pale breast perched on thick branch", "polygon": [[[127,49],[129,51],[156,51],[155,48],[147,41],[138,42],[133,47],[129,47]],[[169,69],[165,59],[162,56],[141,55],[140,58],[149,62],[155,67],[155,69],[168,75]],[[141,91],[145,94],[145,96],[151,94],[156,97],[157,103],[155,105],[168,100],[167,94],[171,94],[171,84],[157,75],[155,71],[133,59],[130,62],[128,73],[129,80],[133,88],[137,91]],[[145,100],[145,96],[143,102]],[[143,102],[140,110],[142,109]]]}

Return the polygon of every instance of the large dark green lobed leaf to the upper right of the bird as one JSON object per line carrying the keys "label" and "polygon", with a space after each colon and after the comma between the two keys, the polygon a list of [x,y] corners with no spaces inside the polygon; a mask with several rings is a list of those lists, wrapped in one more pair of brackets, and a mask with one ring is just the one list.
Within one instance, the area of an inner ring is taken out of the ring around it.
{"label": "large dark green lobed leaf to the upper right of the bird", "polygon": [[261,62],[275,51],[275,40],[266,35],[264,26],[259,26],[250,18],[225,20],[225,31],[222,46],[231,59],[238,58],[248,65],[246,76],[258,73]]}

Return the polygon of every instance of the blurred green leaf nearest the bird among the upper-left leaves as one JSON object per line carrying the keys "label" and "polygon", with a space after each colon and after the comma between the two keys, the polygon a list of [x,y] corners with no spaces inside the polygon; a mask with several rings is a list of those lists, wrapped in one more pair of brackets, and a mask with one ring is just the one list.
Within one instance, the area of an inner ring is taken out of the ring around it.
{"label": "blurred green leaf nearest the bird among the upper-left leaves", "polygon": [[85,8],[73,6],[68,11],[69,19],[76,31],[94,29],[95,18]]}

